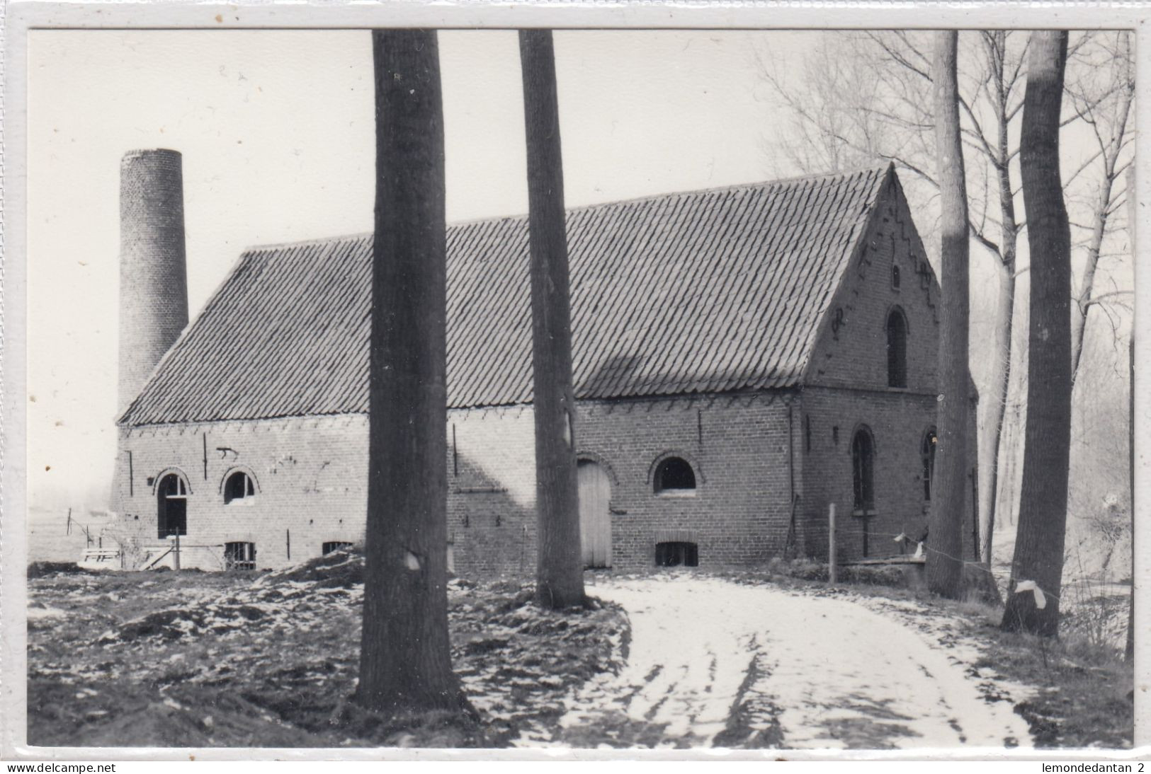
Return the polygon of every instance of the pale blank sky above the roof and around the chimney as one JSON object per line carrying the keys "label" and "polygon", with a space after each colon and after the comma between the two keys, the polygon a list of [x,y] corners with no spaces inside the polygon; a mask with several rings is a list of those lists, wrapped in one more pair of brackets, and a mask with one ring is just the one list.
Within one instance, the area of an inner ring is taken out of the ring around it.
{"label": "pale blank sky above the roof and around the chimney", "polygon": [[[818,33],[556,33],[569,205],[770,179],[755,49]],[[449,221],[527,209],[514,32],[441,32]],[[366,31],[33,31],[29,498],[105,507],[115,454],[119,171],[184,156],[192,316],[250,245],[372,230]]]}

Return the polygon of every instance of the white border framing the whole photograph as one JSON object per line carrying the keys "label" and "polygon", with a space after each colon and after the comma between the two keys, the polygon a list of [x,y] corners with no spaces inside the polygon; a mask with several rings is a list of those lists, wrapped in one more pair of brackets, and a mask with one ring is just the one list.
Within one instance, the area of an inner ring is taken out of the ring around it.
{"label": "white border framing the whole photograph", "polygon": [[[1151,3],[1133,2],[833,2],[653,0],[511,1],[433,0],[380,2],[8,2],[3,12],[2,160],[0,160],[0,248],[2,248],[3,415],[0,446],[0,760],[772,760],[778,751],[638,750],[403,750],[272,748],[36,748],[26,744],[26,348],[28,322],[28,43],[32,30],[114,29],[1129,29],[1136,36],[1136,128],[1151,127]],[[1137,132],[1136,159],[1151,159],[1151,132]],[[1151,175],[1136,174],[1141,202],[1135,240],[1135,562],[1136,631],[1151,631],[1151,276],[1139,258],[1151,235]],[[1133,390],[1135,385],[1133,384]],[[1134,760],[1151,756],[1151,637],[1136,636],[1135,746],[1131,750],[801,751],[788,760]]]}

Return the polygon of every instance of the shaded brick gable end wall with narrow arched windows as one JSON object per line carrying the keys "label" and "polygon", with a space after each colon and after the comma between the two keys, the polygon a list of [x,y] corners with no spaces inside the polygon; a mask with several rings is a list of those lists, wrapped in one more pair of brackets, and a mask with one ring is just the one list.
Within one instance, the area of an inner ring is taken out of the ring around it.
{"label": "shaded brick gable end wall with narrow arched windows", "polygon": [[[892,267],[899,268],[898,288]],[[824,322],[802,393],[805,421],[811,427],[811,449],[803,454],[808,474],[802,482],[808,554],[826,555],[829,503],[838,508],[840,555],[863,553],[864,520],[852,515],[852,436],[860,426],[867,426],[875,438],[877,515],[867,519],[869,555],[899,553],[892,538],[901,532],[913,538],[922,535],[928,519],[922,443],[936,426],[938,299],[939,285],[907,202],[889,185],[831,304],[832,314],[843,311],[843,324],[832,330],[831,319]],[[886,320],[897,306],[907,320],[907,386],[902,389],[887,385]],[[973,403],[965,558],[974,554],[975,432]]]}

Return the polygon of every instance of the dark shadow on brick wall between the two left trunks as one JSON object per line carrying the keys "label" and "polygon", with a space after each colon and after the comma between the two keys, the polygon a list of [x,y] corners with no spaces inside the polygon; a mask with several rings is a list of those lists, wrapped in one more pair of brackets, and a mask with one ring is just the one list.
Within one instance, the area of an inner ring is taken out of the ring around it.
{"label": "dark shadow on brick wall between the two left trunks", "polygon": [[448,469],[448,552],[457,575],[535,575],[534,507],[517,503],[506,482],[463,453]]}

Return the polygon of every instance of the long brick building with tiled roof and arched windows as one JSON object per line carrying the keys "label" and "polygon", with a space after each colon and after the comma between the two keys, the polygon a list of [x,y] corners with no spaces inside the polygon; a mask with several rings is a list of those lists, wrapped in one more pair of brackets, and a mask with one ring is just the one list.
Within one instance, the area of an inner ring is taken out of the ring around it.
{"label": "long brick building with tiled roof and arched windows", "polygon": [[[893,169],[567,228],[589,566],[818,557],[830,504],[841,555],[914,550],[893,538],[927,523],[939,289]],[[448,254],[451,562],[531,572],[526,217],[452,225]],[[114,508],[140,545],[275,567],[360,539],[371,262],[371,236],[244,253],[119,419]]]}

